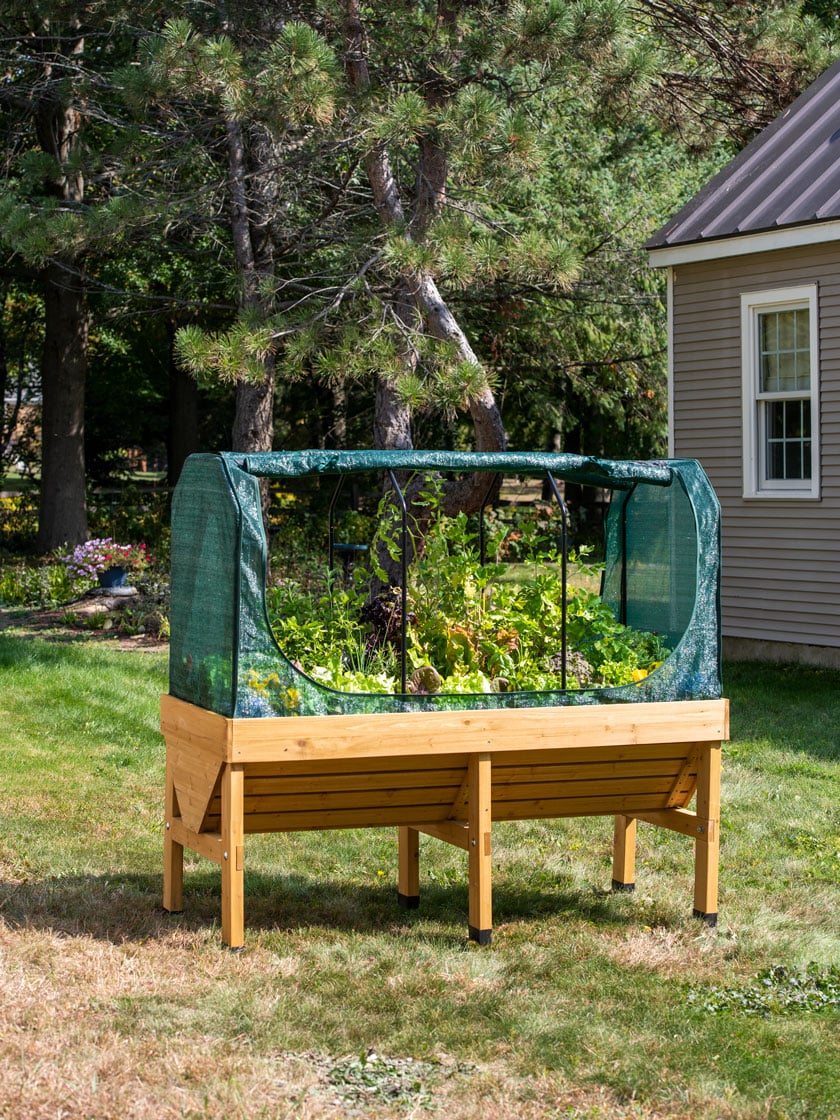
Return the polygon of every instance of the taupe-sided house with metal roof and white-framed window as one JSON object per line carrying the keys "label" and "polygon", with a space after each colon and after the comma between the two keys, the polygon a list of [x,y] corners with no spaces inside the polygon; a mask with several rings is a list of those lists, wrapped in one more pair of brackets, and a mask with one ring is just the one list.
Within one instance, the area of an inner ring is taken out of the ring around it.
{"label": "taupe-sided house with metal roof and white-framed window", "polygon": [[645,248],[670,454],[722,508],[724,652],[840,666],[840,60]]}

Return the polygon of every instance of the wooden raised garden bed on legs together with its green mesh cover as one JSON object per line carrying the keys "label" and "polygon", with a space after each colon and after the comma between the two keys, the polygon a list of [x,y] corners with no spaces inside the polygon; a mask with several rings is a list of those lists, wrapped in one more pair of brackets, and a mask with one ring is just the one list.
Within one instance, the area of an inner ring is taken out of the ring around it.
{"label": "wooden raised garden bed on legs together with its green mesh cover", "polygon": [[[558,496],[563,482],[609,491],[604,601],[622,623],[656,632],[670,653],[612,688],[412,693],[404,669],[394,693],[319,684],[283,655],[269,623],[259,478],[371,469],[390,472],[398,491],[395,473],[409,470],[549,477]],[[608,814],[614,887],[634,883],[637,820],[673,829],[696,842],[693,909],[713,923],[728,736],[718,573],[718,505],[693,461],[413,451],[190,458],[172,514],[165,906],[181,908],[185,846],[216,860],[223,939],[239,946],[246,833],[395,825],[401,904],[419,900],[419,833],[457,844],[468,852],[469,934],[486,942],[492,822]]]}

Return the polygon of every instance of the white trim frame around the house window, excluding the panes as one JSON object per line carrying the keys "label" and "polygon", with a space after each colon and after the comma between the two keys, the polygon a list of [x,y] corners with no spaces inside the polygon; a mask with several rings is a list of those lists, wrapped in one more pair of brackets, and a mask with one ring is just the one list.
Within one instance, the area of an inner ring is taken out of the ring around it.
{"label": "white trim frame around the house window, excluding the panes", "polygon": [[[808,308],[811,342],[811,477],[781,482],[763,477],[759,431],[758,315]],[[820,338],[816,284],[745,291],[740,297],[741,386],[744,422],[744,497],[820,497]]]}

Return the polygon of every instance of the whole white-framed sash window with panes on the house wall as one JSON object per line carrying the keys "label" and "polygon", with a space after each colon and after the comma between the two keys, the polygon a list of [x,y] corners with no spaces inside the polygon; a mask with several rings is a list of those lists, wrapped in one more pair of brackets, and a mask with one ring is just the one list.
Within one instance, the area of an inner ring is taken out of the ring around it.
{"label": "whole white-framed sash window with panes on the house wall", "polygon": [[816,286],[741,296],[744,496],[819,497]]}

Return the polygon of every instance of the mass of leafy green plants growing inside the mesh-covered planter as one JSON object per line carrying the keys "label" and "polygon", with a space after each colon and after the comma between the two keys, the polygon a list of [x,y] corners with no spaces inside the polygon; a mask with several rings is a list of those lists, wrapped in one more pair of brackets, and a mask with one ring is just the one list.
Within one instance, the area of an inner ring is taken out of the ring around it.
{"label": "mass of leafy green plants growing inside the mesh-covered planter", "polygon": [[[562,679],[563,603],[556,549],[535,547],[540,563],[525,581],[498,562],[480,562],[477,530],[463,513],[432,506],[432,529],[408,572],[407,664],[412,692],[553,691]],[[385,528],[382,540],[396,549]],[[491,520],[486,553],[503,554],[506,526]],[[523,552],[533,557],[533,551]],[[371,547],[373,576],[376,541]],[[391,692],[400,678],[402,603],[395,588],[371,595],[356,569],[348,586],[332,576],[302,587],[283,579],[269,591],[269,614],[286,655],[319,683],[352,692]],[[643,680],[668,651],[655,634],[619,624],[600,598],[567,590],[567,687]]]}

